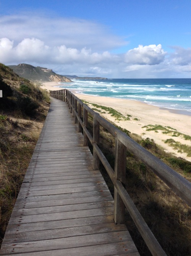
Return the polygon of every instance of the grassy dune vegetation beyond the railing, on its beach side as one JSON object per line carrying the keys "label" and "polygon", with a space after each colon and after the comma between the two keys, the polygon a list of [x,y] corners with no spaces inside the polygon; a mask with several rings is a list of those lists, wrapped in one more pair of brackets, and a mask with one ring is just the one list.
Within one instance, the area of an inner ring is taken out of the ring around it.
{"label": "grassy dune vegetation beyond the railing, on its beach side", "polygon": [[[89,102],[85,103],[89,104]],[[91,104],[89,106],[92,107]],[[97,106],[98,111],[96,109],[95,111],[100,112],[100,109],[102,107]],[[88,129],[92,130],[93,117],[89,115],[88,118]],[[162,147],[155,144],[153,139],[142,139],[140,135],[117,127],[173,170],[191,181],[191,162],[166,152]],[[173,131],[171,127],[162,126],[149,126],[148,129]],[[180,136],[184,136],[184,134],[180,134]],[[91,144],[89,147],[91,148]],[[101,126],[100,148],[114,169],[115,138]],[[100,169],[113,195],[113,184],[102,164]],[[178,198],[144,163],[129,152],[127,152],[126,157],[126,190],[166,254],[172,256],[191,255],[191,208]],[[128,211],[126,211],[125,217],[127,228],[139,253],[144,256],[151,255]]]}

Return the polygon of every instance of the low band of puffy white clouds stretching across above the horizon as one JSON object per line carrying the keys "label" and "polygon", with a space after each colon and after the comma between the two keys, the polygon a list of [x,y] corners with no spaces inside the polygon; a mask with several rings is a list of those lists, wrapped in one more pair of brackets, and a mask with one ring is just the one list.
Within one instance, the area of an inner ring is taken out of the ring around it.
{"label": "low band of puffy white clouds stretching across above the horizon", "polygon": [[17,45],[8,38],[0,39],[0,62],[28,63],[60,74],[108,78],[190,77],[191,71],[190,49],[175,48],[175,52],[167,56],[161,45],[149,45],[117,55],[86,47],[52,47],[37,38],[24,38]]}

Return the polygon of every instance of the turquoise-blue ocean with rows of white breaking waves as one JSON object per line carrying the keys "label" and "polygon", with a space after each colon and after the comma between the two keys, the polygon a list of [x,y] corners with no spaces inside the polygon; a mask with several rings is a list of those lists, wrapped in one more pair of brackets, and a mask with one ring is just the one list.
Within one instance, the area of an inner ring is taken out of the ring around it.
{"label": "turquoise-blue ocean with rows of white breaking waves", "polygon": [[142,101],[191,115],[191,78],[72,80],[60,87],[79,94]]}

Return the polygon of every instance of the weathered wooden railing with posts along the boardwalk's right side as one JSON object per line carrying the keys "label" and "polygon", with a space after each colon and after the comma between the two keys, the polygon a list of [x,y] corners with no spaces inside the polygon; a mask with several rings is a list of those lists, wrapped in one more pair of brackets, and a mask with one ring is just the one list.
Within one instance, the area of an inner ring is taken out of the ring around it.
{"label": "weathered wooden railing with posts along the boardwalk's right side", "polygon": [[[124,188],[123,184],[125,184],[126,177],[126,150],[133,153],[146,164],[147,167],[163,180],[168,187],[176,192],[176,194],[189,206],[191,206],[191,183],[172,168],[164,164],[160,159],[152,155],[149,151],[141,147],[124,132],[121,132],[110,122],[93,111],[70,91],[66,89],[50,91],[50,96],[67,102],[75,123],[78,123],[78,132],[81,132],[83,129],[84,145],[88,144],[88,139],[91,142],[93,146],[93,169],[99,170],[99,162],[101,161],[107,170],[107,173],[114,184],[115,223],[124,223],[126,207],[152,255],[166,255]],[[88,112],[92,115],[94,120],[93,137],[87,130]],[[99,148],[100,125],[115,137],[115,171],[112,169]]]}

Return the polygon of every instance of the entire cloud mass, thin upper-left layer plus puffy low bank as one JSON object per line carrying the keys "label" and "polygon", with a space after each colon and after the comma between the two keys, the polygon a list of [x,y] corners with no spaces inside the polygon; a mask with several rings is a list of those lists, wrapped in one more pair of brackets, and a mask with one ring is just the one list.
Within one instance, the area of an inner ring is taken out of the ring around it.
{"label": "entire cloud mass, thin upper-left layer plus puffy low bank", "polygon": [[[191,77],[191,48],[171,46],[168,53],[151,42],[130,49],[125,38],[95,21],[23,13],[0,17],[0,26],[0,62],[6,65],[108,78]],[[124,46],[128,50],[117,51]]]}

